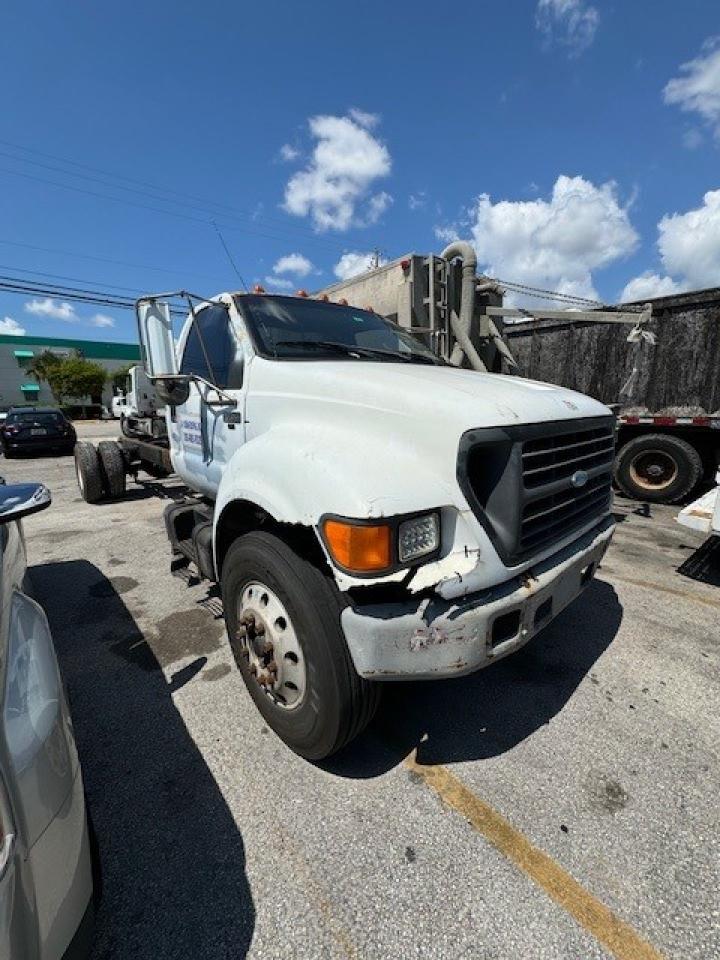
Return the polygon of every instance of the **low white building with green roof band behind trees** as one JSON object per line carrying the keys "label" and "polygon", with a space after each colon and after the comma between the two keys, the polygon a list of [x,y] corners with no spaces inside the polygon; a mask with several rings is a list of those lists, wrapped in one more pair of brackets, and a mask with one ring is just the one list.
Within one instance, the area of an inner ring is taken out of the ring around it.
{"label": "low white building with green roof band behind trees", "polygon": [[[86,360],[102,364],[108,373],[140,359],[140,348],[134,343],[0,334],[0,410],[19,404],[55,405],[55,398],[48,385],[44,382],[38,383],[27,372],[33,358],[45,350],[50,350],[60,357],[71,357],[79,353]],[[103,391],[103,403],[109,404],[111,398],[112,385],[108,383]]]}

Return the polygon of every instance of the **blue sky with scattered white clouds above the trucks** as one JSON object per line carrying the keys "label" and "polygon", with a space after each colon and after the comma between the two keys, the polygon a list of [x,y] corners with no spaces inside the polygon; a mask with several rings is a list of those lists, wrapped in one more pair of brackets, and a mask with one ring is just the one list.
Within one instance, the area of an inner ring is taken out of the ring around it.
{"label": "blue sky with scattered white clouds above the trucks", "polygon": [[[276,289],[451,236],[608,302],[720,285],[717,35],[710,0],[6,0],[0,273],[236,289],[215,218]],[[133,339],[99,312],[0,292],[5,332]]]}

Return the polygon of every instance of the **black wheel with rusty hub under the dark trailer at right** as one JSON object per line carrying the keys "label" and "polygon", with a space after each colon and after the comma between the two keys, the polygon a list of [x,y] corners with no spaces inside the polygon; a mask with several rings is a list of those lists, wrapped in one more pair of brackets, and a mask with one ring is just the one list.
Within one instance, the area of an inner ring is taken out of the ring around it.
{"label": "black wheel with rusty hub under the dark trailer at right", "polygon": [[703,473],[697,450],[671,434],[648,433],[620,448],[615,481],[623,493],[650,503],[676,503]]}

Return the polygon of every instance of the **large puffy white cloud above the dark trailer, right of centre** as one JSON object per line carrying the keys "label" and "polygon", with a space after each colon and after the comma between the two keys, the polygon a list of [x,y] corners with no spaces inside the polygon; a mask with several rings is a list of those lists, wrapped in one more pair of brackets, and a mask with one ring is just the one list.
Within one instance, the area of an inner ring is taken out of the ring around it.
{"label": "large puffy white cloud above the dark trailer, right of centre", "polygon": [[[615,184],[595,186],[583,177],[559,176],[548,200],[493,203],[482,194],[470,216],[478,261],[489,276],[592,299],[593,271],[638,242]],[[443,240],[458,236],[452,226],[436,232]]]}

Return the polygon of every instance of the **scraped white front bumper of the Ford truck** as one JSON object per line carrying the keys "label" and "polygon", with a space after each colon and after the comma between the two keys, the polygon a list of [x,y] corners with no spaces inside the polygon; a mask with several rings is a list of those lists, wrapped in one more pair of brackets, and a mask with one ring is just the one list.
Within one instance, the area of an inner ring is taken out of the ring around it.
{"label": "scraped white front bumper of the Ford truck", "polygon": [[460,600],[437,595],[349,606],[342,626],[355,669],[369,680],[472,673],[519,649],[591,581],[611,517],[532,570]]}

